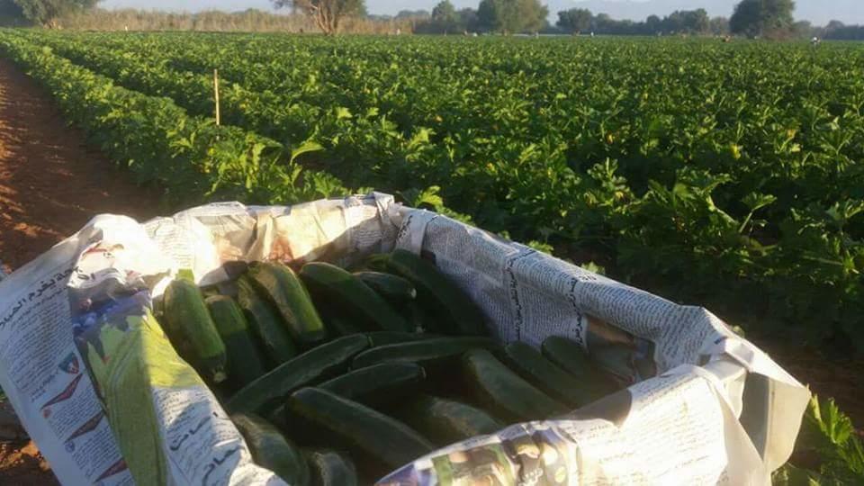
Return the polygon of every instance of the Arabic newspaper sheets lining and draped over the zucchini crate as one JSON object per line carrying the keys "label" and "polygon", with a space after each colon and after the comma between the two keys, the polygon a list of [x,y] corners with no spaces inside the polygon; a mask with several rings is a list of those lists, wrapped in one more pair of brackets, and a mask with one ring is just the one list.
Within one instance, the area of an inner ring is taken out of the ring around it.
{"label": "Arabic newspaper sheets lining and draped over the zucchini crate", "polygon": [[252,464],[153,299],[181,270],[218,284],[229,262],[350,264],[397,247],[434,260],[501,343],[572,338],[632,384],[420,457],[383,484],[767,484],[791,454],[809,392],[710,312],[382,193],[94,218],[0,282],[0,385],[64,484],[284,484]]}

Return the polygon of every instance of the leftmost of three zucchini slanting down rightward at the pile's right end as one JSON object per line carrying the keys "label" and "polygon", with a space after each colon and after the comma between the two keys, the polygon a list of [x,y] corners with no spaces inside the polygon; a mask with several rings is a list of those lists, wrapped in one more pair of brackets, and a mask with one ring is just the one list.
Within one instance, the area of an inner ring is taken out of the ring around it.
{"label": "leftmost of three zucchini slanting down rightward at the pile's right end", "polygon": [[484,410],[511,422],[547,419],[567,410],[513,373],[485,349],[462,356],[466,387]]}

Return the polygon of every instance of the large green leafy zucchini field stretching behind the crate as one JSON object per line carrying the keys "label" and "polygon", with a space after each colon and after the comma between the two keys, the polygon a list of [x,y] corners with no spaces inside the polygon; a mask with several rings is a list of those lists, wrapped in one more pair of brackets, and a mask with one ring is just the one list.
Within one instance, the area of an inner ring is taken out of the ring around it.
{"label": "large green leafy zucchini field stretching behind the crate", "polygon": [[374,188],[748,332],[864,348],[860,45],[7,30],[0,50],[175,207]]}

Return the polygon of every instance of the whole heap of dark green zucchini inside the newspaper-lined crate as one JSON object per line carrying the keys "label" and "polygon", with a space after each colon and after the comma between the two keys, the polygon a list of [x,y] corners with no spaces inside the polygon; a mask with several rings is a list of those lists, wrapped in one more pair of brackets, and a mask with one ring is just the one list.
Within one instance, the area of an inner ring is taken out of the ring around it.
{"label": "whole heap of dark green zucchini inside the newspaper-lined crate", "polygon": [[178,279],[157,319],[254,461],[291,484],[374,482],[621,388],[571,340],[501,347],[458,286],[403,250],[354,273],[254,263],[218,289]]}

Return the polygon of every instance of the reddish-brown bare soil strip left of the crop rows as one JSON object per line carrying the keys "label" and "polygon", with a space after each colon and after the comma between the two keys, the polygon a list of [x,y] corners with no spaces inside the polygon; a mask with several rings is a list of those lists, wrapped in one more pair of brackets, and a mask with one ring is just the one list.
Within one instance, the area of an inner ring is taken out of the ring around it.
{"label": "reddish-brown bare soil strip left of the crop rows", "polygon": [[[142,189],[67,127],[50,95],[0,58],[0,261],[8,273],[81,229],[95,214],[156,216],[157,194]],[[9,415],[8,403],[0,414]],[[5,416],[4,415],[4,416]],[[13,416],[14,418],[14,416]],[[6,426],[8,424],[2,424]],[[58,484],[27,440],[0,437],[0,484]]]}

